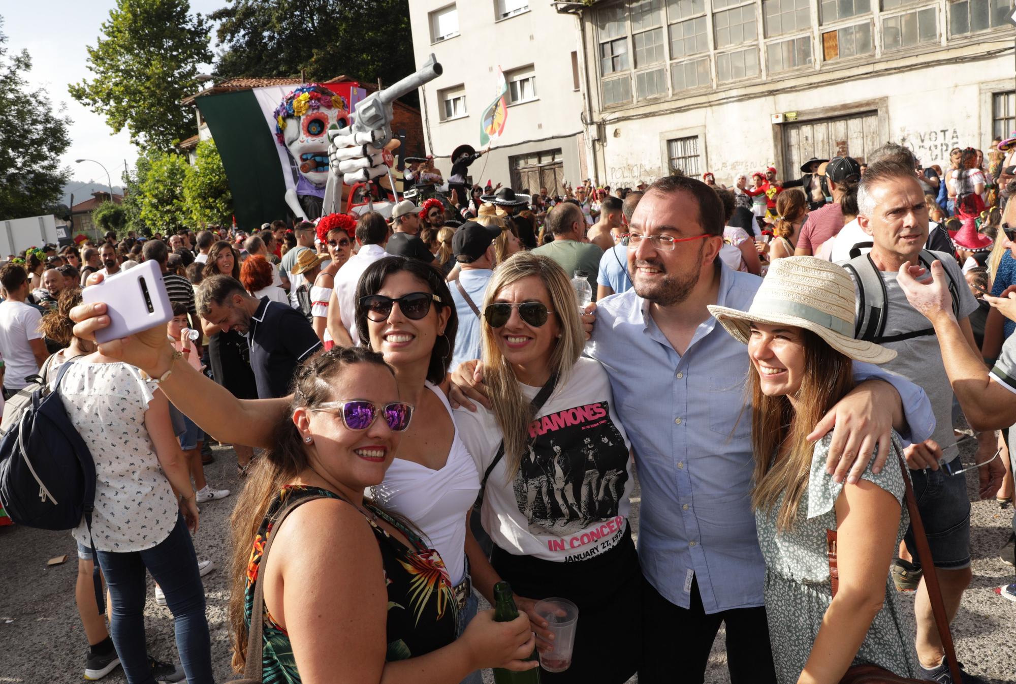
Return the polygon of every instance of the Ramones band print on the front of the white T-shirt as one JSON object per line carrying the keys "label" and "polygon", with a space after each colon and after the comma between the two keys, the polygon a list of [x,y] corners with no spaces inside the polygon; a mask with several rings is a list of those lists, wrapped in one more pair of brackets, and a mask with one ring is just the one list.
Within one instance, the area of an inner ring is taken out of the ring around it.
{"label": "Ramones band print on the front of the white T-shirt", "polygon": [[[513,489],[530,534],[552,551],[578,552],[625,528],[618,515],[628,449],[607,401],[542,416],[529,425],[528,454]],[[616,540],[615,540],[616,541]]]}

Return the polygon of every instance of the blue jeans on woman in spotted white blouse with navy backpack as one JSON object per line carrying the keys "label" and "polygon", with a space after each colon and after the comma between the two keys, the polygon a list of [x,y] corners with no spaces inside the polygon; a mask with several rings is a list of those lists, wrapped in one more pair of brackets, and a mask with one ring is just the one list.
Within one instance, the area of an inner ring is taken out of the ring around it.
{"label": "blue jeans on woman in spotted white blouse with navy backpack", "polygon": [[183,516],[157,546],[144,551],[99,551],[99,566],[113,602],[110,635],[128,684],[154,684],[144,639],[147,569],[173,613],[177,649],[189,684],[211,684],[211,637],[204,615],[204,586]]}

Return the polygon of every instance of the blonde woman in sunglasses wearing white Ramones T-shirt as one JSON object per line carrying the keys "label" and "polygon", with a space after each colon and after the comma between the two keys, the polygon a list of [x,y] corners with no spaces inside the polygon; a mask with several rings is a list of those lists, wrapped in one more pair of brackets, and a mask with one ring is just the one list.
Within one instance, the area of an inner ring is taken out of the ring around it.
{"label": "blonde woman in sunglasses wearing white Ramones T-shirt", "polygon": [[[526,611],[548,597],[578,606],[571,667],[542,672],[545,684],[625,682],[641,647],[629,444],[607,373],[579,358],[578,313],[568,275],[551,259],[519,252],[498,266],[484,299],[492,409],[455,414],[487,476],[481,520],[495,544],[490,565],[469,554],[473,585],[489,598],[504,579]],[[544,387],[549,394],[533,414],[530,402]],[[467,549],[473,544],[467,540]],[[537,637],[546,633],[539,627],[537,618]]]}

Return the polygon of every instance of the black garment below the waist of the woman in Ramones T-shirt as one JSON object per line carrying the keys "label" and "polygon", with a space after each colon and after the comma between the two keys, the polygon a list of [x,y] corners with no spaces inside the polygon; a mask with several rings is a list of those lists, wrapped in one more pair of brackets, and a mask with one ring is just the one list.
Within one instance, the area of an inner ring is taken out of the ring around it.
{"label": "black garment below the waist of the woman in Ramones T-shirt", "polygon": [[543,684],[624,684],[642,652],[642,570],[631,525],[617,545],[574,563],[513,556],[495,545],[491,564],[512,590],[529,599],[559,597],[578,606],[571,667],[539,671]]}

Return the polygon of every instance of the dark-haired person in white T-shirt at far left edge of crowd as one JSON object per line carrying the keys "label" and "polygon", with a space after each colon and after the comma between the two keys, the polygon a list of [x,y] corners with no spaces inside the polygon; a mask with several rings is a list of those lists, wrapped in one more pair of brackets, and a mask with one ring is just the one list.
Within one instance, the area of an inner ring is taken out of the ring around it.
{"label": "dark-haired person in white T-shirt at far left edge of crowd", "polygon": [[28,296],[28,274],[20,264],[7,263],[0,267],[0,286],[7,299],[0,302],[0,354],[5,372],[3,395],[10,398],[28,384],[26,377],[39,373],[49,358],[39,329],[42,314],[24,303]]}

